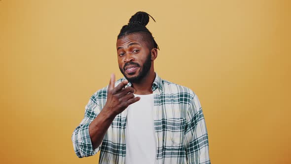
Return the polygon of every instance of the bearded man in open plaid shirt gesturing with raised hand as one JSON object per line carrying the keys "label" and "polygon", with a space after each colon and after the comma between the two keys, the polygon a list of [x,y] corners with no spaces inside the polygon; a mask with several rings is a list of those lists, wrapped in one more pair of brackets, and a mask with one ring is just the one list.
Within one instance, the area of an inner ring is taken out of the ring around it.
{"label": "bearded man in open plaid shirt gesturing with raised hand", "polygon": [[98,90],[73,132],[79,158],[100,164],[210,164],[208,134],[197,95],[154,72],[158,45],[137,12],[117,37],[124,78]]}

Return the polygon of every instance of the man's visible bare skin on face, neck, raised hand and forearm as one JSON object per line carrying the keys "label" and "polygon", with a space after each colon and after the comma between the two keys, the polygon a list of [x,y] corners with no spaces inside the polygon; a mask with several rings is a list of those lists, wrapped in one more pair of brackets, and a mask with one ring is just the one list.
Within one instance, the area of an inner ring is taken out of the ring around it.
{"label": "man's visible bare skin on face, neck, raised hand and forearm", "polygon": [[[138,63],[140,67],[134,68],[134,71],[125,71],[125,76],[136,77],[143,69],[144,63],[148,55],[151,55],[151,67],[140,82],[132,83],[132,86],[126,88],[127,80],[119,83],[114,87],[115,76],[110,77],[107,102],[101,110],[100,114],[90,123],[89,134],[93,148],[96,149],[102,140],[114,118],[123,112],[130,104],[140,100],[140,97],[135,97],[135,94],[150,94],[152,93],[152,83],[155,79],[153,61],[157,57],[157,48],[153,48],[149,42],[145,41],[143,34],[129,34],[116,42],[118,66],[123,69],[128,62]],[[132,65],[128,65],[132,67]]]}

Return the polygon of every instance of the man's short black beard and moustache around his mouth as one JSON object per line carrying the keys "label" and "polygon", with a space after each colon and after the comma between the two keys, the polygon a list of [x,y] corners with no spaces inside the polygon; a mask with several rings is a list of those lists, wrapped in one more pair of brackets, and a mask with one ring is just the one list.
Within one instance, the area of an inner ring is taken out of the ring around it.
{"label": "man's short black beard and moustache around his mouth", "polygon": [[131,83],[140,83],[147,75],[150,67],[151,67],[151,56],[150,56],[150,53],[147,55],[148,57],[146,58],[146,61],[145,63],[143,63],[143,67],[142,69],[140,70],[140,72],[138,73],[137,76],[135,77],[127,77],[125,75],[125,67],[128,66],[128,65],[137,65],[138,67],[141,67],[138,63],[135,63],[135,62],[128,62],[128,63],[125,63],[124,67],[123,68],[120,68],[119,67],[119,70],[120,72],[122,73],[122,75],[126,78],[126,80],[128,82],[131,82]]}

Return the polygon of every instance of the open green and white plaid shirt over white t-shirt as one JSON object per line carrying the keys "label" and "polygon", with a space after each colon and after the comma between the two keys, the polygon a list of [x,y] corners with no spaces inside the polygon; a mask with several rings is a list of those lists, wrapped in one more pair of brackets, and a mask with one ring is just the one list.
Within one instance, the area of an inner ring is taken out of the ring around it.
{"label": "open green and white plaid shirt over white t-shirt", "polygon": [[[123,80],[116,81],[115,86]],[[106,103],[107,88],[98,90],[86,105],[84,119],[73,131],[73,148],[79,158],[101,150],[100,164],[124,164],[127,109],[115,117],[98,148],[93,149],[89,135],[89,124]],[[152,91],[155,164],[210,164],[208,134],[197,95],[187,87],[162,80],[157,74]]]}

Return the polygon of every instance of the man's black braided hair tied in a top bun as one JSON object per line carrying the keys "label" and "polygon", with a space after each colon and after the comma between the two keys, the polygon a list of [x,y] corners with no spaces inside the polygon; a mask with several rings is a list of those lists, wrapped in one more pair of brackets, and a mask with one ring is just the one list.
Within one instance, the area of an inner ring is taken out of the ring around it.
{"label": "man's black braided hair tied in a top bun", "polygon": [[147,23],[149,21],[149,17],[151,17],[152,20],[155,21],[153,19],[153,17],[150,16],[146,12],[139,11],[139,12],[135,13],[129,19],[128,24],[127,25],[124,25],[121,28],[120,33],[118,34],[117,39],[120,39],[120,38],[122,38],[122,37],[124,37],[126,35],[129,35],[129,34],[132,34],[132,33],[141,33],[141,34],[145,34],[146,35],[147,39],[149,39],[150,44],[154,48],[158,48],[159,49],[159,46],[155,42],[154,38],[152,37],[152,34],[146,28],[146,25],[147,25]]}

